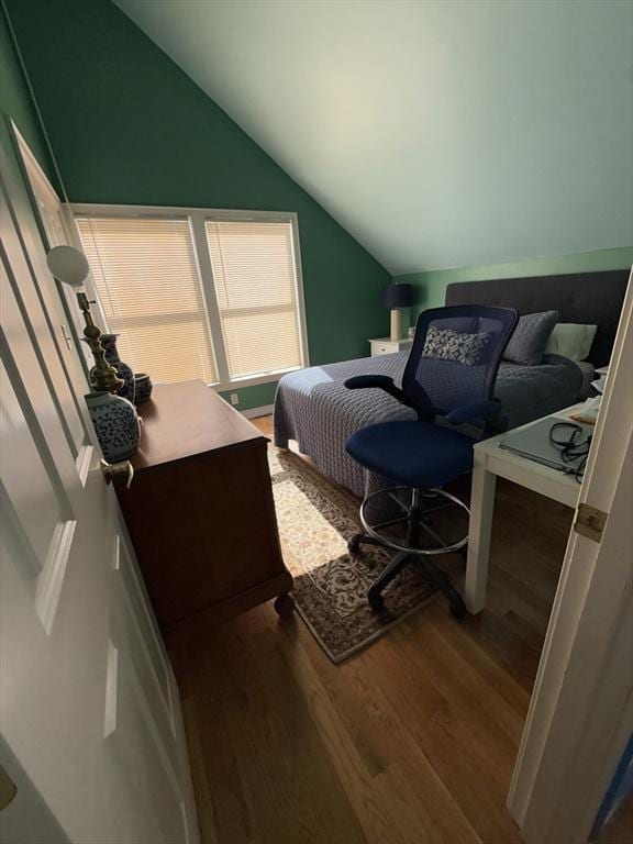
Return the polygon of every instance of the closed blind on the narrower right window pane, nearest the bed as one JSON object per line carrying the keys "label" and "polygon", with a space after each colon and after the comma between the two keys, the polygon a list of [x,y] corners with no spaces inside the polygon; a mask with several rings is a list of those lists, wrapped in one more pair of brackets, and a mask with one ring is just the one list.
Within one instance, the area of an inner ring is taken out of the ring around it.
{"label": "closed blind on the narrower right window pane, nearest the bed", "polygon": [[230,377],[302,366],[291,223],[206,227]]}

